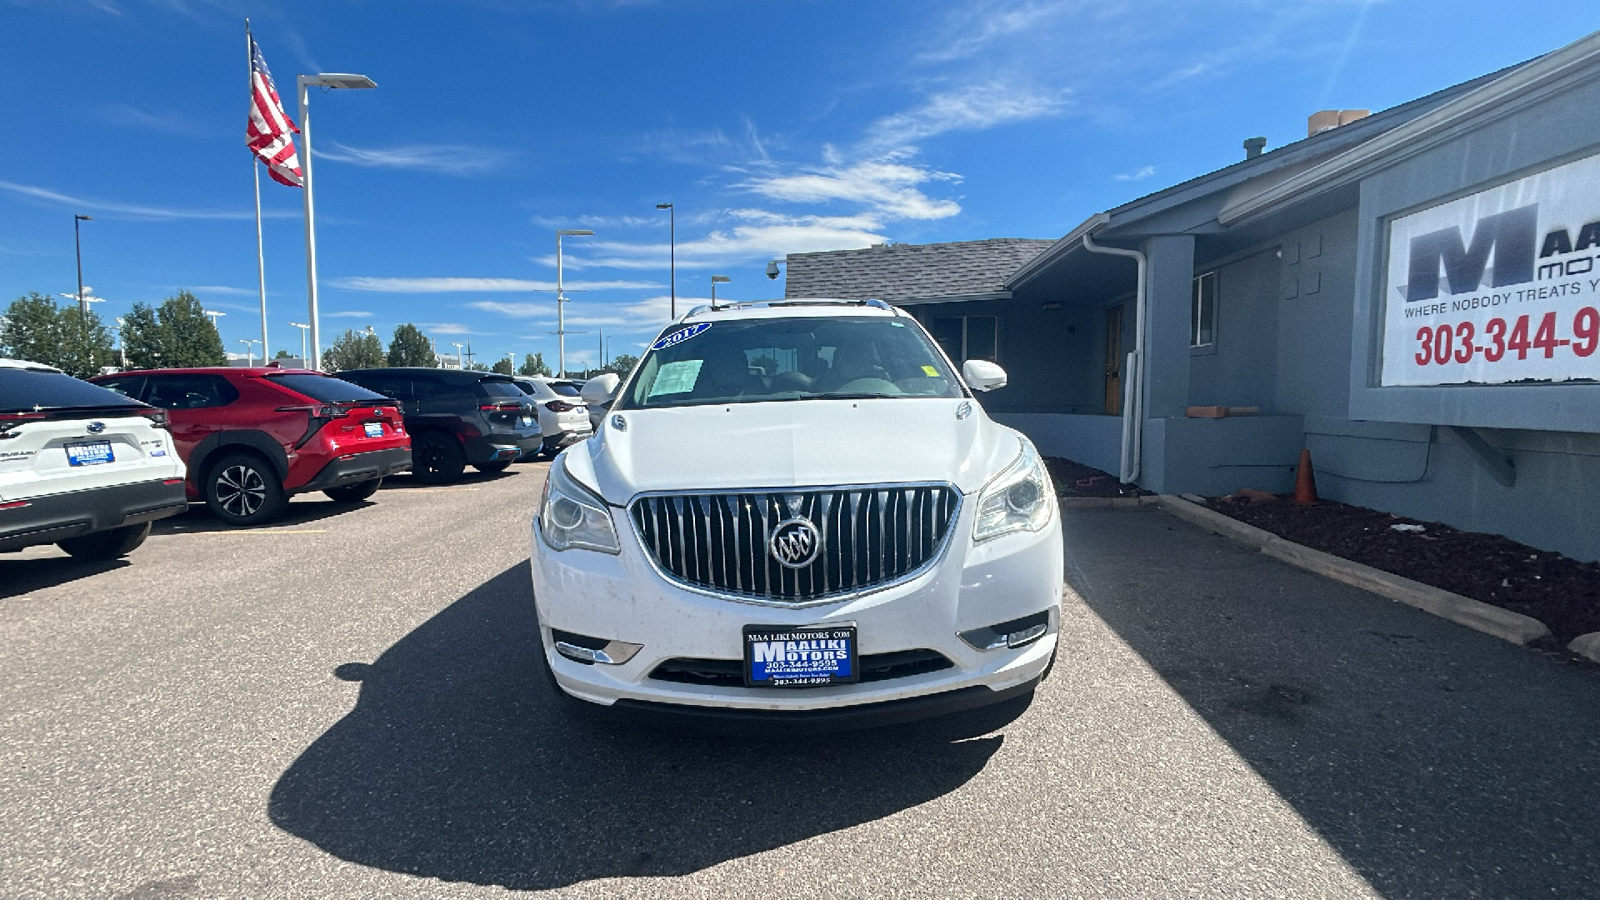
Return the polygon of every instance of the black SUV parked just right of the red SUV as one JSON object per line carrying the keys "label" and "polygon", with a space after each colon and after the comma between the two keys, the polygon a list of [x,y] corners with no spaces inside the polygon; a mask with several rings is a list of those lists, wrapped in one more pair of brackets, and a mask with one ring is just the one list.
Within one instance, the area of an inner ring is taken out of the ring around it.
{"label": "black SUV parked just right of the red SUV", "polygon": [[453,482],[469,464],[499,472],[544,447],[533,400],[507,375],[395,367],[357,368],[339,378],[400,402],[418,480]]}

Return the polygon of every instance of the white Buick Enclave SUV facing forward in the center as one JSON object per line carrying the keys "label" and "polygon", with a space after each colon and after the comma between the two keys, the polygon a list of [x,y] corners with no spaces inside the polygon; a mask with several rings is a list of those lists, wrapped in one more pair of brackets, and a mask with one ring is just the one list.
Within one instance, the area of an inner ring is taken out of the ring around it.
{"label": "white Buick Enclave SUV facing forward in the center", "polygon": [[874,725],[1030,692],[1062,543],[1034,445],[883,303],[701,307],[550,464],[533,522],[566,695],[712,719]]}

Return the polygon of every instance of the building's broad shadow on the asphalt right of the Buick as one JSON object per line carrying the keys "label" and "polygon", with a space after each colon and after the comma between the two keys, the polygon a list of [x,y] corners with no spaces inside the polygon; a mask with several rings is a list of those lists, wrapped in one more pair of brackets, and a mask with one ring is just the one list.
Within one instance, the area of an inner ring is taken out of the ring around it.
{"label": "building's broad shadow on the asphalt right of the Buick", "polygon": [[1074,519],[1074,591],[1378,894],[1595,895],[1594,671],[1158,511]]}

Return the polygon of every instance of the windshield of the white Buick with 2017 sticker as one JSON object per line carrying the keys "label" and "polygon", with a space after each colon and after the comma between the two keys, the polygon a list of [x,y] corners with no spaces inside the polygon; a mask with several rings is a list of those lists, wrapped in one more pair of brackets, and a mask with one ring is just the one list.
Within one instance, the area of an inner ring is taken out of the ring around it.
{"label": "windshield of the white Buick with 2017 sticker", "polygon": [[621,408],[962,396],[962,383],[915,322],[744,319],[669,330],[638,364]]}

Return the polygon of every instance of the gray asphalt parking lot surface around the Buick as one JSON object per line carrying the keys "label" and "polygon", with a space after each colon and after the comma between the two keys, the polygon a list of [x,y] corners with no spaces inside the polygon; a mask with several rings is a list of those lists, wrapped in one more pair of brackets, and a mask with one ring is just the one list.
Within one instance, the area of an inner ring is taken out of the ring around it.
{"label": "gray asphalt parking lot surface around the Buick", "polygon": [[0,557],[0,895],[1579,897],[1600,673],[1154,508],[1067,512],[1030,706],[784,740],[563,716],[546,466],[130,560]]}

